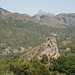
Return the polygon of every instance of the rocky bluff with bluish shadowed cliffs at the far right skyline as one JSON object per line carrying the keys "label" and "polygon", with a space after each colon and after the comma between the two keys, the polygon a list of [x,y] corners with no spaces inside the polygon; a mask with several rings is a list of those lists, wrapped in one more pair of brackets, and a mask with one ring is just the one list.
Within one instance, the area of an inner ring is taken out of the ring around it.
{"label": "rocky bluff with bluish shadowed cliffs at the far right skyline", "polygon": [[56,16],[56,19],[59,21],[62,21],[63,23],[65,23],[67,25],[75,26],[75,13],[58,14]]}

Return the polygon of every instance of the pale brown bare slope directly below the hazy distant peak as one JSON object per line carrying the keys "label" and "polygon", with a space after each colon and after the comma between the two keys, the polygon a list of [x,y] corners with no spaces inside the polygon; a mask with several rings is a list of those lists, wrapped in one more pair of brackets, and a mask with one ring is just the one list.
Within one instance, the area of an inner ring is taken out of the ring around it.
{"label": "pale brown bare slope directly below the hazy distant peak", "polygon": [[43,25],[51,26],[53,28],[66,28],[67,24],[56,19],[55,16],[34,16],[35,19]]}

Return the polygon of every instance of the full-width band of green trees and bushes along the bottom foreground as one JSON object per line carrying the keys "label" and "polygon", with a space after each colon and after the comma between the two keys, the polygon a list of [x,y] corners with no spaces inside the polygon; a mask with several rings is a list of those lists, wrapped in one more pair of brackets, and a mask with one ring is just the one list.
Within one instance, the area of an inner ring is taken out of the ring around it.
{"label": "full-width band of green trees and bushes along the bottom foreground", "polygon": [[1,61],[0,75],[75,75],[74,55],[47,60],[44,54],[41,61],[36,56],[30,60],[19,59],[19,56]]}

